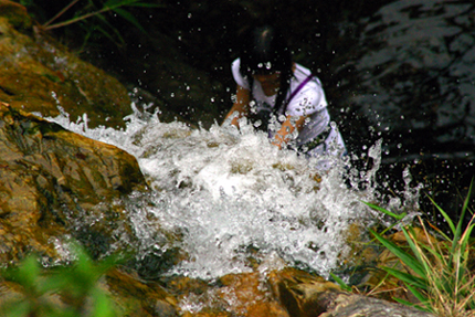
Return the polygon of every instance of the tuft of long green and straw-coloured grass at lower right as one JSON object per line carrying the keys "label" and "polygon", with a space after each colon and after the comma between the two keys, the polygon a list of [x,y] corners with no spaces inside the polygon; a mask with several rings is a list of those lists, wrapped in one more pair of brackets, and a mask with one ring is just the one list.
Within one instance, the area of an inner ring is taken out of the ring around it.
{"label": "tuft of long green and straw-coloured grass at lower right", "polygon": [[[456,224],[431,199],[448,224],[451,235],[445,234],[429,222],[424,223],[421,218],[419,218],[419,224],[401,224],[401,231],[405,236],[408,247],[397,245],[382,234],[371,231],[374,237],[397,255],[401,262],[401,266],[383,267],[383,270],[403,282],[407,289],[420,303],[413,304],[394,298],[395,300],[435,313],[439,316],[475,316],[475,274],[472,271],[471,257],[474,251],[471,235],[475,226],[475,215],[468,208],[472,186],[473,183],[469,187]],[[388,215],[392,215],[380,207],[371,203],[367,204]],[[472,213],[472,218],[464,226],[467,211]],[[395,219],[401,221],[400,218]],[[432,229],[437,239],[430,233],[428,226]]]}

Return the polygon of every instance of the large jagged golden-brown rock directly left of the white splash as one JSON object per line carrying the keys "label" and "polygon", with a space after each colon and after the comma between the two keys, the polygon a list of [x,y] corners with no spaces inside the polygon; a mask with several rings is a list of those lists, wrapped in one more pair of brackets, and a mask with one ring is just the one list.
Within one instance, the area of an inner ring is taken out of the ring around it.
{"label": "large jagged golden-brown rock directly left of the white splash", "polygon": [[[72,234],[101,253],[128,226],[117,199],[145,184],[125,151],[0,105],[0,261],[29,252],[57,258]],[[96,255],[97,255],[96,254]]]}

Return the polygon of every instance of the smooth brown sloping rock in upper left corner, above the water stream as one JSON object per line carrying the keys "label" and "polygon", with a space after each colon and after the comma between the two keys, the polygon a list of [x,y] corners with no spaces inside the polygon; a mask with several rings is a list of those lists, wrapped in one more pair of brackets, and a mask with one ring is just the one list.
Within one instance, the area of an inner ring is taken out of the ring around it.
{"label": "smooth brown sloping rock in upper left corner, above the water stream", "polygon": [[33,27],[27,10],[0,0],[0,102],[25,112],[72,120],[87,114],[91,127],[123,127],[131,113],[126,88]]}

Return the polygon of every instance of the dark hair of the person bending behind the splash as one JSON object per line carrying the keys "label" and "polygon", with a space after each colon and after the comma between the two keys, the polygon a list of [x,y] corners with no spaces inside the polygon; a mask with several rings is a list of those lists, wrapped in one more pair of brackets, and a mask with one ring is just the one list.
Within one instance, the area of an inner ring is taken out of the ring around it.
{"label": "dark hair of the person bending behind the splash", "polygon": [[285,112],[283,104],[293,76],[293,62],[283,32],[267,24],[249,29],[243,33],[240,59],[240,72],[250,82],[251,89],[253,74],[281,72],[281,86],[274,109],[278,113],[284,106]]}

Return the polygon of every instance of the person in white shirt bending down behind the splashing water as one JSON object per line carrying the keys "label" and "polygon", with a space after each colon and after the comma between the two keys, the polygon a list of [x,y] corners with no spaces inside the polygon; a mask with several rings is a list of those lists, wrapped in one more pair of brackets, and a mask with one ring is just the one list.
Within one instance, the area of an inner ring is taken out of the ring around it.
{"label": "person in white shirt bending down behind the splashing water", "polygon": [[292,147],[307,156],[346,152],[340,133],[330,124],[320,81],[292,61],[276,28],[261,25],[245,32],[231,67],[238,87],[224,123],[239,127],[240,118],[246,117],[279,149]]}

